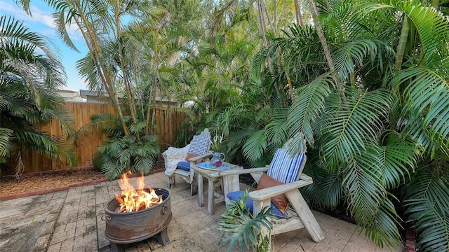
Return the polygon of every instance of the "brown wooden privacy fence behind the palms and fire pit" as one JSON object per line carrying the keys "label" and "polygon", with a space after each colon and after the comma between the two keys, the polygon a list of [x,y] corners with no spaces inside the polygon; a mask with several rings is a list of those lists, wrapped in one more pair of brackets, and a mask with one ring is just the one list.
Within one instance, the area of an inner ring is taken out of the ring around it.
{"label": "brown wooden privacy fence behind the palms and fire pit", "polygon": [[[67,102],[65,109],[72,113],[74,118],[74,128],[79,130],[84,125],[91,122],[91,116],[97,113],[112,113],[116,115],[116,109],[109,104],[87,103],[87,102]],[[154,123],[156,125],[155,134],[158,136],[161,151],[168,146],[175,144],[177,130],[185,123],[187,116],[179,111],[170,111],[167,109],[156,109]],[[58,123],[52,122],[41,125],[40,130],[46,132],[50,136],[62,136],[64,133]],[[77,145],[74,146],[73,139],[68,144],[74,148],[76,155],[76,167],[91,167],[93,165],[93,157],[98,146],[108,140],[107,134],[97,132],[91,128],[79,137]],[[68,168],[66,164],[60,164],[39,153],[24,151],[22,160],[25,165],[24,172],[43,172],[49,170],[58,170]],[[11,165],[15,165],[15,159],[11,158]],[[4,171],[7,172],[7,171]],[[11,171],[10,171],[11,172]]]}

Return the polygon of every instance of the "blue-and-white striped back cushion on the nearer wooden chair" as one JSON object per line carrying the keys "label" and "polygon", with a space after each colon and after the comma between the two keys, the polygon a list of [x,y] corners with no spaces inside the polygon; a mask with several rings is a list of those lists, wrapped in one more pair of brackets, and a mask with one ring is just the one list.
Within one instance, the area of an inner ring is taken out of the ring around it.
{"label": "blue-and-white striped back cushion on the nearer wooden chair", "polygon": [[286,149],[279,148],[274,153],[274,158],[269,165],[267,175],[282,183],[291,183],[296,181],[297,176],[302,172],[304,161],[304,153],[290,156],[290,153]]}

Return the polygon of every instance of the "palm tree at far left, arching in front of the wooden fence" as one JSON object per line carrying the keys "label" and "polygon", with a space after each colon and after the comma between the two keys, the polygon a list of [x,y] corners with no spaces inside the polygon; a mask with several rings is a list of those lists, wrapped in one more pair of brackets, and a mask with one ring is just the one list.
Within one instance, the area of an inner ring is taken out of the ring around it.
{"label": "palm tree at far left, arching in front of the wooden fence", "polygon": [[69,116],[59,106],[55,89],[65,85],[65,71],[48,47],[50,41],[29,31],[14,18],[0,17],[0,162],[16,155],[15,175],[23,172],[22,151],[31,150],[53,160],[74,160],[58,146],[64,138],[48,137],[39,124],[55,120],[69,137]]}

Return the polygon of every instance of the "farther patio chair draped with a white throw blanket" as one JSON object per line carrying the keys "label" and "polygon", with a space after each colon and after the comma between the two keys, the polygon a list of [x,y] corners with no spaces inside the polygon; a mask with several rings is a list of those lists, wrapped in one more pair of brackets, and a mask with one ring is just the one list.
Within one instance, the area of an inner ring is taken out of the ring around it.
{"label": "farther patio chair draped with a white throw blanket", "polygon": [[209,160],[212,157],[210,148],[210,132],[206,128],[201,134],[193,137],[190,144],[183,148],[168,147],[162,153],[165,160],[166,175],[168,176],[169,188],[175,186],[175,175],[181,176],[190,184],[190,193],[194,195],[197,190],[194,169],[192,165]]}

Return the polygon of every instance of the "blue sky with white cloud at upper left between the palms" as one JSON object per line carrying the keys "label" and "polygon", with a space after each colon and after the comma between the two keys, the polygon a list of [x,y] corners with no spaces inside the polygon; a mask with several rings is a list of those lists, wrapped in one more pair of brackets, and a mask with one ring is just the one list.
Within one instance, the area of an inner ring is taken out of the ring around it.
{"label": "blue sky with white cloud at upper left between the palms", "polygon": [[86,42],[81,36],[81,33],[76,31],[75,26],[69,27],[69,36],[72,38],[76,48],[80,51],[76,52],[65,45],[59,38],[51,16],[53,13],[52,8],[49,8],[42,1],[31,1],[30,9],[32,17],[27,15],[15,3],[15,0],[0,0],[0,15],[13,16],[16,20],[22,21],[30,31],[48,37],[55,44],[55,48],[58,49],[56,52],[60,52],[60,60],[67,73],[67,86],[62,89],[74,91],[87,90],[86,83],[84,83],[78,71],[76,71],[76,61],[88,52]]}

